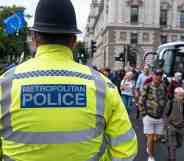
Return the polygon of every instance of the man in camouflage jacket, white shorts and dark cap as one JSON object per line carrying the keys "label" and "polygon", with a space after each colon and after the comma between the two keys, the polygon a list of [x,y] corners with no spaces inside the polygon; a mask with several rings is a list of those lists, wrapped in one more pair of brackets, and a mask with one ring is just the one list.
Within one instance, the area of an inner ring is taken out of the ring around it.
{"label": "man in camouflage jacket, white shorts and dark cap", "polygon": [[156,143],[164,130],[163,112],[167,99],[162,75],[163,72],[159,69],[153,72],[152,82],[144,86],[139,100],[144,134],[147,139],[148,161],[155,161]]}

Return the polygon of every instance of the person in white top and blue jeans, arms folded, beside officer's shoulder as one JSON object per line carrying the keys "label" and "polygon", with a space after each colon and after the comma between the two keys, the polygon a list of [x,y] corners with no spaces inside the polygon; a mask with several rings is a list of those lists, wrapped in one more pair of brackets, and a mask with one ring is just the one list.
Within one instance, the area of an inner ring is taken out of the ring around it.
{"label": "person in white top and blue jeans, arms folded, beside officer's shoulder", "polygon": [[132,100],[135,82],[133,80],[133,72],[127,72],[121,82],[121,96],[128,112],[132,111]]}

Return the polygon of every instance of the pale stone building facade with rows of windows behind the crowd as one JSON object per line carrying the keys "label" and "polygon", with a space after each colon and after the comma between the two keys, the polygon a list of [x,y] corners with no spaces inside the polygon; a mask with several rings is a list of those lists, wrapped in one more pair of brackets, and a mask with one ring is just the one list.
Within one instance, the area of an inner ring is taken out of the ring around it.
{"label": "pale stone building facade with rows of windows behind the crowd", "polygon": [[92,40],[97,46],[92,64],[98,68],[122,68],[115,58],[124,54],[131,62],[130,53],[143,64],[144,55],[160,44],[184,41],[184,0],[92,0],[85,35],[89,52]]}

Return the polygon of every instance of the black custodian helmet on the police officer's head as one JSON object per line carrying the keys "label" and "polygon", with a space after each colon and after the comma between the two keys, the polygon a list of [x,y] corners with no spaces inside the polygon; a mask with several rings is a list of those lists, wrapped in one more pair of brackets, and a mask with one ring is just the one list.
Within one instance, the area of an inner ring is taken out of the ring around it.
{"label": "black custodian helmet on the police officer's head", "polygon": [[50,34],[80,34],[70,0],[40,0],[31,31]]}

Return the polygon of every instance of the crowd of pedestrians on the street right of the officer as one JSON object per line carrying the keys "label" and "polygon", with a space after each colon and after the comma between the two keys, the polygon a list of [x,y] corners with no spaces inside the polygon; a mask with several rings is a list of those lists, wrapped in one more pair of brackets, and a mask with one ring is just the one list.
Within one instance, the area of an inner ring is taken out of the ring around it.
{"label": "crowd of pedestrians on the street right of the officer", "polygon": [[[158,141],[168,145],[169,161],[176,161],[176,149],[184,135],[184,79],[180,72],[166,78],[161,69],[100,70],[119,89],[127,112],[136,111],[143,122],[148,161],[155,161]],[[135,110],[136,109],[136,110]]]}

